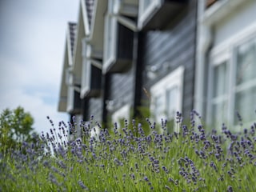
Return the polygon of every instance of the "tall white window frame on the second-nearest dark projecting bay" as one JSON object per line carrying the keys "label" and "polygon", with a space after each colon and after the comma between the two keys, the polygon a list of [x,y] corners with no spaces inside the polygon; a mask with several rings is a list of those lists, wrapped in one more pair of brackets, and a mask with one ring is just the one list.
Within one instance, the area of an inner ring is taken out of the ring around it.
{"label": "tall white window frame on the second-nearest dark projecting bay", "polygon": [[114,2],[108,2],[108,12],[105,16],[104,26],[104,53],[102,72],[106,73],[109,66],[117,58],[118,20],[113,16]]}

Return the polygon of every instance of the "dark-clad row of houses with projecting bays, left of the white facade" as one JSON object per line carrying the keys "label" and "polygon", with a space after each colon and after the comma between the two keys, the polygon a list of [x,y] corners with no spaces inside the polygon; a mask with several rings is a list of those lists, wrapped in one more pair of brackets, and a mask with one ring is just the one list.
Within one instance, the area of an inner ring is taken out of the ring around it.
{"label": "dark-clad row of houses with projecting bays, left of the white facade", "polygon": [[[174,120],[177,110],[189,116],[196,15],[196,0],[81,0],[73,64],[62,75],[61,90],[74,92],[73,108],[59,102],[58,110],[85,120],[93,114],[105,125],[134,118],[141,106],[157,121]],[[73,82],[66,84],[69,75]]]}

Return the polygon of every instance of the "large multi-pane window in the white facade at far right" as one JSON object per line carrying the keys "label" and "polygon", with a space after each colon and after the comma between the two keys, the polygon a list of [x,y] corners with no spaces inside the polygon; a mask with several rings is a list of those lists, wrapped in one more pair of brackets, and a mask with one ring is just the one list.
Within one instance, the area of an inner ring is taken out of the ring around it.
{"label": "large multi-pane window in the white facade at far right", "polygon": [[236,111],[241,114],[244,123],[255,119],[256,38],[237,43],[218,50],[210,58],[207,122],[218,130],[223,122],[238,129]]}

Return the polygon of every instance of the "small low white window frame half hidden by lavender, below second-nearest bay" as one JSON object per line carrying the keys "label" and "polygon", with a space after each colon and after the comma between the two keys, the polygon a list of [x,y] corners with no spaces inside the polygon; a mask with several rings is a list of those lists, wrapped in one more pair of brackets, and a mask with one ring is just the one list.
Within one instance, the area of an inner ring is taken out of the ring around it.
{"label": "small low white window frame half hidden by lavender, below second-nearest bay", "polygon": [[130,119],[130,104],[126,104],[125,106],[122,106],[119,110],[115,111],[112,114],[112,123],[118,123],[118,128],[120,128],[120,120],[121,119],[127,119],[129,121]]}

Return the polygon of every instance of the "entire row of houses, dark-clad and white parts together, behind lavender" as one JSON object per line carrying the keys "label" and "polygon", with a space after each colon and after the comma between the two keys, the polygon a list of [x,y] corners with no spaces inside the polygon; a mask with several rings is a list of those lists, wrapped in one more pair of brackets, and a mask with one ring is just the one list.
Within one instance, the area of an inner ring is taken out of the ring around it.
{"label": "entire row of houses, dark-clad and white parts together, behind lavender", "polygon": [[216,128],[237,125],[236,110],[252,121],[254,10],[253,0],[81,0],[58,110],[105,126],[142,107],[156,122],[193,109]]}

